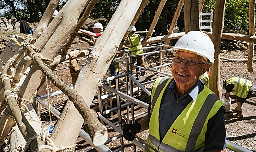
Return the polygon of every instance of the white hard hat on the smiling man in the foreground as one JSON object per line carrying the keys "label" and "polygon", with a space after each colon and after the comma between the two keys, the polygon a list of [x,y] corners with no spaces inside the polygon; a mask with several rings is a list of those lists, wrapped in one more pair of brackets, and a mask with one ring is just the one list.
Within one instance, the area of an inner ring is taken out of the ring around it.
{"label": "white hard hat on the smiling man in the foreground", "polygon": [[200,31],[191,31],[183,35],[172,48],[172,53],[179,49],[184,49],[205,57],[210,61],[210,66],[214,63],[214,45],[210,37]]}

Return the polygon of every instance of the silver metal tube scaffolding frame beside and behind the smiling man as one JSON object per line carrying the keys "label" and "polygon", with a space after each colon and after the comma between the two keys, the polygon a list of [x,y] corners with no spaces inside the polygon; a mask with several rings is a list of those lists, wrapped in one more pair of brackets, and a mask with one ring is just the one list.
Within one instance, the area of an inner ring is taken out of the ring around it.
{"label": "silver metal tube scaffolding frame beside and behind the smiling man", "polygon": [[[142,53],[140,55],[133,55],[133,56],[128,56],[128,54],[125,53],[125,57],[119,57],[119,58],[114,59],[115,61],[118,61],[119,63],[125,64],[125,67],[126,67],[125,73],[117,75],[117,76],[109,75],[110,77],[103,79],[102,85],[98,87],[98,102],[99,102],[99,112],[97,112],[98,118],[101,120],[102,124],[106,123],[106,125],[105,125],[106,128],[112,127],[114,130],[116,130],[117,132],[120,133],[114,137],[111,137],[110,139],[108,139],[106,141],[106,143],[109,143],[114,140],[120,139],[121,146],[118,147],[117,149],[115,149],[113,152],[119,152],[119,151],[123,152],[124,151],[122,120],[124,120],[125,123],[134,123],[135,117],[147,113],[147,111],[145,111],[145,112],[139,113],[137,115],[134,115],[134,104],[139,105],[140,107],[143,107],[145,109],[148,109],[148,104],[133,97],[133,94],[135,93],[135,92],[133,92],[133,87],[141,88],[140,91],[144,91],[148,96],[150,96],[151,95],[150,91],[148,91],[148,89],[145,88],[144,85],[154,83],[154,80],[151,80],[151,81],[141,84],[139,81],[137,81],[132,76],[132,74],[138,73],[138,72],[132,72],[132,67],[143,69],[140,72],[152,71],[152,72],[165,74],[166,76],[172,76],[169,73],[162,72],[162,70],[161,70],[161,67],[163,67],[163,66],[172,65],[172,60],[164,59],[161,57],[159,66],[152,67],[152,68],[144,68],[144,67],[140,67],[137,65],[132,65],[131,58],[135,57],[135,56],[143,56],[143,55],[145,55],[144,58],[146,58],[147,56],[154,54],[154,53],[162,54],[162,52],[171,51],[171,49],[162,50],[162,47],[164,47],[164,46],[172,48],[172,46],[170,46],[170,45],[163,45],[161,43],[158,46],[146,47],[146,48],[157,48],[153,52]],[[145,49],[145,48],[143,48],[143,49]],[[158,49],[160,49],[160,50],[158,51]],[[119,61],[118,59],[125,59],[125,63],[123,61]],[[162,64],[162,61],[169,61],[170,63]],[[160,71],[153,70],[155,68],[160,68]],[[123,77],[126,77],[126,80],[129,79],[128,82],[122,82],[122,83],[126,84],[126,93],[123,93],[120,91],[120,85],[119,85],[120,83],[119,82],[121,82],[120,78],[123,78]],[[108,82],[108,84],[111,85],[111,80],[116,81],[116,89],[103,84],[105,82]],[[133,82],[136,84],[135,86],[133,86]],[[102,91],[102,89],[103,89],[103,91]],[[104,92],[104,94],[102,94],[102,92]],[[109,92],[109,93],[107,93],[107,92]],[[139,91],[137,91],[137,92],[139,92]],[[56,91],[56,92],[50,93],[50,97],[57,96],[60,94],[62,94],[61,91]],[[41,103],[46,109],[48,109],[48,103],[46,103],[46,101],[43,100],[43,99],[45,99],[45,96],[47,96],[47,95],[42,95],[41,97],[38,97],[37,101],[39,103]],[[112,99],[117,99],[117,107],[111,106],[111,105],[113,105]],[[105,110],[103,109],[103,107],[104,107],[103,101],[105,102],[104,103]],[[110,104],[108,104],[107,101],[110,101]],[[130,116],[130,111],[129,111],[130,107],[129,106],[131,106],[131,116]],[[122,114],[122,111],[121,111],[121,109],[125,108],[125,107],[127,108],[127,116],[126,117]],[[51,112],[53,113],[53,115],[55,115],[57,118],[60,117],[61,113],[59,111],[54,109],[52,106],[50,106],[50,109],[51,109]],[[110,113],[110,116],[113,116],[113,114],[111,115],[111,113],[113,113],[113,112],[116,112],[118,114],[118,121],[116,121],[114,123],[112,123],[111,121],[109,121],[107,118],[104,117],[104,115],[107,115],[109,113]],[[130,119],[131,119],[131,121],[130,121]],[[108,147],[106,147],[106,145],[100,145],[100,146],[93,145],[93,142],[91,141],[90,136],[82,129],[79,132],[79,136],[82,137],[85,141],[87,141],[93,148],[95,148],[99,152],[112,152]],[[138,146],[141,149],[144,149],[144,145],[142,143],[140,143],[138,140],[134,139],[132,141],[132,143],[133,143],[133,151],[134,152],[136,152],[136,146]],[[226,141],[226,144],[227,144],[227,148],[234,152],[240,152],[240,151],[252,152],[252,151],[250,151],[244,147],[241,147],[240,145],[232,143],[231,141],[228,141],[228,140]],[[93,149],[93,148],[90,148],[90,149]],[[87,151],[90,151],[90,149],[88,149]]]}

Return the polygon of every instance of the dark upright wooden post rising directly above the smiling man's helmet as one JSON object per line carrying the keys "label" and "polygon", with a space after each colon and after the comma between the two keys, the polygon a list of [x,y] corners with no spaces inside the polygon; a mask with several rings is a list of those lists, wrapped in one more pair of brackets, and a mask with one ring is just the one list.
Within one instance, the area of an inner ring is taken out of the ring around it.
{"label": "dark upright wooden post rising directly above the smiling man's helmet", "polygon": [[185,34],[199,31],[198,0],[184,0]]}

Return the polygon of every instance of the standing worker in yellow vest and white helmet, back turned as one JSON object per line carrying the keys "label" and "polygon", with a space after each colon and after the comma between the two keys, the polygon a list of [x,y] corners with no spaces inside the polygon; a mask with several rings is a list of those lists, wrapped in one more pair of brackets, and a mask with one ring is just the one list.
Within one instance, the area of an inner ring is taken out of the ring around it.
{"label": "standing worker in yellow vest and white helmet, back turned", "polygon": [[[131,25],[128,28],[128,31],[130,33],[130,35],[127,37],[126,41],[122,41],[123,45],[130,45],[130,52],[131,55],[138,55],[143,53],[143,49],[142,49],[142,44],[140,41],[140,35],[139,34],[135,34],[136,28],[135,26]],[[137,59],[137,65],[141,66],[142,65],[142,56],[136,56],[136,57],[132,57],[132,64],[135,63]],[[136,72],[140,71],[140,68],[136,68]],[[136,80],[140,79],[140,73],[136,73]]]}

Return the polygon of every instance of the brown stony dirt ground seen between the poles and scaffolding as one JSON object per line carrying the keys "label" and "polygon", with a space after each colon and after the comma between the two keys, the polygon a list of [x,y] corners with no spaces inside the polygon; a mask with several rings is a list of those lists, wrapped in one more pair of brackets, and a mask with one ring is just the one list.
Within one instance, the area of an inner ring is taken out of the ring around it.
{"label": "brown stony dirt ground seen between the poles and scaffolding", "polygon": [[[81,41],[80,39],[76,38],[76,40],[74,42],[79,42]],[[86,49],[86,48],[93,48],[93,46],[89,45],[88,43],[84,42],[84,43],[75,43],[72,45],[71,49]],[[152,50],[147,50],[147,52],[152,51]],[[166,55],[166,59],[172,57],[171,53],[167,53]],[[230,58],[230,59],[246,59],[248,57],[248,51],[239,51],[239,50],[233,50],[233,51],[226,51],[226,50],[222,50],[221,51],[221,57],[226,57],[226,58]],[[256,58],[254,56],[254,58]],[[147,67],[155,67],[157,65],[159,65],[158,63],[158,59],[159,59],[159,53],[158,54],[153,54],[150,55],[146,58],[145,64]],[[84,58],[84,60],[79,60],[79,65],[83,65],[86,61],[86,58]],[[167,63],[167,62],[164,62]],[[56,68],[56,70],[54,71],[54,73],[59,76],[60,79],[62,79],[66,84],[71,83],[71,76],[70,76],[70,72],[69,72],[69,63],[64,63],[64,64],[60,64],[58,65],[58,67]],[[121,66],[121,70],[123,71],[124,69],[124,65],[120,65]],[[60,68],[65,68],[66,69],[61,69]],[[80,69],[82,68],[82,66],[79,66]],[[155,69],[155,70],[160,70]],[[171,73],[171,66],[167,66],[167,67],[162,67],[162,71],[163,72],[167,72],[167,73]],[[256,71],[256,68],[254,67],[254,71]],[[150,74],[152,72],[146,72],[147,74]],[[222,80],[226,80],[229,79],[229,77],[242,77],[245,78],[247,80],[252,81],[253,84],[256,84],[256,72],[253,73],[249,73],[246,69],[246,63],[238,63],[238,62],[227,62],[227,61],[221,61],[221,79]],[[57,89],[56,87],[54,87],[52,85],[52,83],[50,83],[50,81],[48,81],[48,87],[50,89],[50,92],[54,92],[54,91],[58,91],[59,89]],[[152,87],[152,84],[146,85],[146,88],[150,89]],[[223,92],[225,93],[225,92]],[[42,85],[42,87],[38,90],[38,94],[39,95],[44,95],[46,94],[46,85]],[[148,103],[149,101],[149,96],[144,93],[144,92],[139,92],[136,93],[134,95],[135,98],[138,98],[139,100],[144,101],[145,103]],[[58,111],[62,112],[65,103],[67,101],[67,97],[65,95],[59,95],[59,96],[55,96],[55,97],[51,97],[50,98],[50,104],[56,108]],[[47,101],[47,99],[45,99],[45,101]],[[236,103],[234,101],[234,99],[231,99],[232,103],[231,103],[231,108],[235,108],[236,107]],[[98,96],[97,94],[94,97],[94,100],[91,104],[91,107],[95,107],[96,105],[98,105]],[[113,102],[113,106],[117,105],[116,102]],[[123,115],[127,116],[127,109],[123,108]],[[142,113],[147,111],[144,108],[141,108],[139,106],[135,106],[135,114],[138,113]],[[256,152],[256,97],[251,97],[250,99],[246,100],[246,102],[243,104],[243,115],[244,118],[242,119],[236,119],[236,118],[232,118],[231,116],[233,115],[233,113],[228,112],[225,113],[225,126],[226,126],[226,136],[227,136],[227,140],[232,141],[233,143],[236,143],[244,148],[250,149],[251,151]],[[49,114],[48,114],[48,110],[44,107],[42,107],[40,105],[40,113],[41,113],[41,119],[42,122],[46,122],[49,121]],[[142,119],[144,115],[138,116],[136,117],[136,122],[139,121],[140,119]],[[106,115],[106,117],[112,121],[115,122],[118,120],[118,115],[117,113],[113,112],[113,117],[110,117],[110,115]],[[54,117],[52,115],[52,119],[54,122],[57,122],[57,118]],[[123,125],[124,125],[124,121],[122,121]],[[118,135],[118,132],[115,131],[113,128],[109,128],[108,129],[108,136],[109,138]],[[138,133],[138,136],[141,137],[142,139],[146,140],[148,137],[148,130],[144,130]],[[83,152],[86,149],[91,148],[91,146],[84,141],[81,137],[78,137],[78,139],[76,140],[76,150],[75,152]],[[117,149],[118,147],[120,147],[120,140],[114,140],[108,144],[106,144],[108,148],[110,148],[112,151],[114,151],[115,149]],[[136,147],[136,151],[140,152],[143,151],[142,149]],[[124,151],[125,152],[133,152],[133,144],[131,143],[131,141],[127,141],[124,139]],[[227,152],[231,152],[231,150],[227,150]]]}

